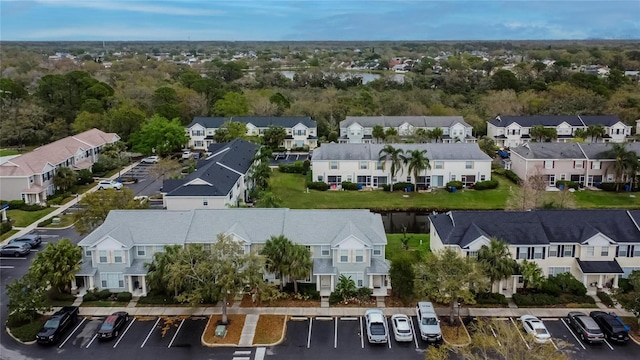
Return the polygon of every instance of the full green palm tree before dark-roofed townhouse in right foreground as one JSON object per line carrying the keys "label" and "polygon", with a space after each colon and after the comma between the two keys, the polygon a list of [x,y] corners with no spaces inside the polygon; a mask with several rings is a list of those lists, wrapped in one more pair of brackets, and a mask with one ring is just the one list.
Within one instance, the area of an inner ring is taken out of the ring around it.
{"label": "full green palm tree before dark-roofed townhouse in right foreground", "polygon": [[491,238],[489,246],[483,245],[478,251],[480,267],[491,280],[491,286],[499,281],[499,290],[502,289],[502,280],[508,279],[516,270],[516,262],[511,257],[509,245],[496,238]]}

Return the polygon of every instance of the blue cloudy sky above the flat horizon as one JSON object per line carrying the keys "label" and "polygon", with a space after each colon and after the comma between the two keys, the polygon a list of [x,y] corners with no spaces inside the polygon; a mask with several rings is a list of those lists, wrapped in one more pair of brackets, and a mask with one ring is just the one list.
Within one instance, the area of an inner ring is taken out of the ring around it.
{"label": "blue cloudy sky above the flat horizon", "polygon": [[640,0],[0,0],[2,41],[640,39]]}

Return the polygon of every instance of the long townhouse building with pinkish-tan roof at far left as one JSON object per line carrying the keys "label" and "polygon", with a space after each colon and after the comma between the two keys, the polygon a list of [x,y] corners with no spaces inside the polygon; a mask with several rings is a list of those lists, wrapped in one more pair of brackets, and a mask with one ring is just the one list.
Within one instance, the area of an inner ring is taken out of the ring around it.
{"label": "long townhouse building with pinkish-tan roof at far left", "polygon": [[8,159],[0,164],[0,199],[44,203],[55,193],[57,169],[90,169],[102,147],[118,140],[117,134],[91,129]]}

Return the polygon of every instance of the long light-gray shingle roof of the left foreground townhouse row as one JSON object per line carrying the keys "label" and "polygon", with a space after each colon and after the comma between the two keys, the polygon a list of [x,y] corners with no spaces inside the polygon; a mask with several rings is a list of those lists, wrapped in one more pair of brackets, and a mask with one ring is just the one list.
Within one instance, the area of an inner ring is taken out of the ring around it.
{"label": "long light-gray shingle roof of the left foreground townhouse row", "polygon": [[[349,223],[353,234],[343,231]],[[369,210],[198,209],[112,210],[80,245],[93,246],[105,236],[129,247],[211,243],[220,233],[235,233],[249,244],[278,235],[303,245],[329,245],[349,235],[372,245],[387,243],[382,217]]]}

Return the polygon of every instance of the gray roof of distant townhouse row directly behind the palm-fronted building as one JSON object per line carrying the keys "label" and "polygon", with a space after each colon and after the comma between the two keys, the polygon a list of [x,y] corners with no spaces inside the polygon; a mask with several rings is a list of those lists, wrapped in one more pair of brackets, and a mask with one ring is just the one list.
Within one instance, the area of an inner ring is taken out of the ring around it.
{"label": "gray roof of distant townhouse row directly behind the palm-fronted building", "polygon": [[404,123],[414,127],[451,127],[460,123],[465,127],[471,125],[464,121],[462,116],[347,116],[340,121],[340,127],[345,128],[353,123],[358,123],[364,127],[398,127]]}

